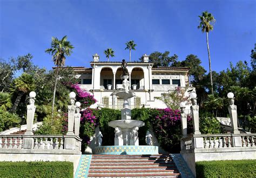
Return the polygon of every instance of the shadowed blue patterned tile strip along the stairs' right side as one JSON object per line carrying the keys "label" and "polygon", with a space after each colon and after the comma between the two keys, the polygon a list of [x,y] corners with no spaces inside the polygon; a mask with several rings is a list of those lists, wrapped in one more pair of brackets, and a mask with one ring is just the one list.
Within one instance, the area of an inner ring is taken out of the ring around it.
{"label": "shadowed blue patterned tile strip along the stairs' right side", "polygon": [[177,169],[179,170],[179,173],[181,175],[181,178],[194,178],[193,173],[191,172],[190,168],[187,166],[186,161],[183,159],[181,154],[170,154],[170,156],[173,159],[173,162],[175,163]]}

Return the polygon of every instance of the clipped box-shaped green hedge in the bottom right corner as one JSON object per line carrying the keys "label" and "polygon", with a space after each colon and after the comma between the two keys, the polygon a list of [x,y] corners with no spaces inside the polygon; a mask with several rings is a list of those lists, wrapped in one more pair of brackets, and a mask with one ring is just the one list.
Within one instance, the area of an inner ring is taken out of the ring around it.
{"label": "clipped box-shaped green hedge in the bottom right corner", "polygon": [[197,177],[256,177],[256,160],[196,162]]}

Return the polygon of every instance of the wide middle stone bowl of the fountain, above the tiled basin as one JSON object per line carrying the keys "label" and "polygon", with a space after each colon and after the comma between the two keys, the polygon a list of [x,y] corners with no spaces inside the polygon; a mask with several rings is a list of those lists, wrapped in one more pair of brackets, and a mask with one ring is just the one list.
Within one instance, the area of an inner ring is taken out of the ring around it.
{"label": "wide middle stone bowl of the fountain, above the tiled basin", "polygon": [[133,127],[142,127],[145,123],[140,120],[112,120],[109,122],[109,126],[120,129],[132,129]]}

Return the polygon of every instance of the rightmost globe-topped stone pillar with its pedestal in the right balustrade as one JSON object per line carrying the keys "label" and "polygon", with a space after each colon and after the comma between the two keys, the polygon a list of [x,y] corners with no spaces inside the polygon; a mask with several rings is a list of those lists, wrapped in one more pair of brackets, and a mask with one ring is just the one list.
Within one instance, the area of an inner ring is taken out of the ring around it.
{"label": "rightmost globe-topped stone pillar with its pedestal in the right balustrade", "polygon": [[[230,113],[230,120],[231,120],[231,126],[232,126],[232,131],[231,133],[237,133],[239,134],[239,130],[238,130],[238,120],[237,120],[237,106],[234,105],[234,94],[232,92],[229,92],[227,94],[228,97],[228,103],[230,104],[228,106],[228,112]],[[241,147],[242,143],[241,143],[241,137],[237,136],[237,137],[232,137],[232,143],[234,147]]]}

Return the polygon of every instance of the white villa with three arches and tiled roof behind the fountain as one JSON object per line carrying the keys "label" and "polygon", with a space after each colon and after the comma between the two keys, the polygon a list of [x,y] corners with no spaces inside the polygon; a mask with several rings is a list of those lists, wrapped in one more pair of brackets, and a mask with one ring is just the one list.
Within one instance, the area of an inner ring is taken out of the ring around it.
{"label": "white villa with three arches and tiled roof behind the fountain", "polygon": [[[99,61],[99,55],[93,55],[91,68],[73,67],[80,79],[80,87],[90,91],[97,106],[121,109],[123,99],[116,96],[116,92],[123,88],[122,67],[120,62]],[[176,87],[188,87],[188,69],[186,67],[158,67],[153,68],[149,56],[143,55],[143,62],[127,62],[130,90],[136,96],[129,99],[131,108],[166,108],[166,105],[156,97],[173,91]]]}

